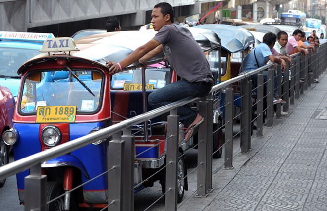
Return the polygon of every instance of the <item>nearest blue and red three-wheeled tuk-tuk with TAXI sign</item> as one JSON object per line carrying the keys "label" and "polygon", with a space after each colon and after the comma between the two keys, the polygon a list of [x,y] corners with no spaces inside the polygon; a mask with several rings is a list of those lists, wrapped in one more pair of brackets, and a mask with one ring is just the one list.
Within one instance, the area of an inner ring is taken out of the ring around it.
{"label": "nearest blue and red three-wheeled tuk-tuk with TAXI sign", "polygon": [[[118,62],[145,44],[154,31],[120,31],[94,35],[76,42],[71,38],[51,38],[44,42],[42,54],[23,64],[18,73],[22,82],[13,117],[13,128],[3,134],[13,146],[15,160],[99,131],[148,109],[147,95],[177,80],[170,68],[149,68],[147,74],[139,63],[124,69],[124,76],[109,75],[107,60]],[[210,30],[194,29],[196,41],[204,51],[220,46]],[[210,39],[208,39],[210,38]],[[149,64],[164,62],[163,53]],[[142,74],[141,74],[142,73]],[[142,78],[139,77],[149,77]],[[112,83],[113,81],[113,83]],[[145,86],[141,86],[141,83]],[[147,89],[145,87],[147,86]],[[132,88],[133,87],[133,88]],[[135,125],[134,190],[150,187],[157,180],[165,189],[164,116]],[[183,127],[180,127],[183,133]],[[110,137],[97,140],[58,158],[42,163],[47,175],[47,210],[79,210],[82,207],[106,207],[108,199],[107,147]],[[178,202],[187,190],[186,161],[182,156],[190,143],[179,139]],[[163,172],[163,171],[162,171]],[[28,170],[17,174],[19,200],[24,203],[24,178]],[[103,175],[101,175],[103,174]],[[100,175],[100,176],[99,176]],[[145,181],[145,182],[143,182]],[[86,183],[86,184],[84,184]],[[81,184],[83,186],[79,187]],[[73,188],[77,190],[71,192]]]}

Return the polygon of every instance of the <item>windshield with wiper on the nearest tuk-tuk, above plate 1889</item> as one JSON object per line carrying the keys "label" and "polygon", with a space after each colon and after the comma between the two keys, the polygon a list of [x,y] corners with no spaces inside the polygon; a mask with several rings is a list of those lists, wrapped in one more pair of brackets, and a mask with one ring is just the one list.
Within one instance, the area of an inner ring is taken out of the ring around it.
{"label": "windshield with wiper on the nearest tuk-tuk, above plate 1889", "polygon": [[72,71],[84,85],[67,69],[28,73],[21,83],[19,112],[35,115],[38,106],[76,106],[77,114],[95,113],[101,106],[103,74],[96,70]]}

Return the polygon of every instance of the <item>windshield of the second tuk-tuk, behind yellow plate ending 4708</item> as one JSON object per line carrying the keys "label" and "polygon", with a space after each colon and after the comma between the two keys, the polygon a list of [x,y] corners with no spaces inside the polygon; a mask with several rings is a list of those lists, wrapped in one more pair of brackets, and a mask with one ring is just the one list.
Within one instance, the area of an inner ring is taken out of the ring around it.
{"label": "windshield of the second tuk-tuk, behind yellow plate ending 4708", "polygon": [[[161,67],[161,66],[159,66]],[[169,68],[147,68],[145,70],[146,89],[160,89],[169,84]],[[111,88],[123,90],[142,89],[142,70],[133,69],[112,76]]]}

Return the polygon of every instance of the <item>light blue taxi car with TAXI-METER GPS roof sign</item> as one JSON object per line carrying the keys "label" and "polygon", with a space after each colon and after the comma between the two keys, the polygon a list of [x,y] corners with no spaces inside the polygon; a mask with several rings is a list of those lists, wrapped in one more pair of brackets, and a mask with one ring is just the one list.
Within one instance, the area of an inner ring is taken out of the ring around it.
{"label": "light blue taxi car with TAXI-METER GPS roof sign", "polygon": [[21,78],[18,68],[39,54],[43,42],[52,37],[47,33],[0,31],[0,85],[8,87],[14,97]]}

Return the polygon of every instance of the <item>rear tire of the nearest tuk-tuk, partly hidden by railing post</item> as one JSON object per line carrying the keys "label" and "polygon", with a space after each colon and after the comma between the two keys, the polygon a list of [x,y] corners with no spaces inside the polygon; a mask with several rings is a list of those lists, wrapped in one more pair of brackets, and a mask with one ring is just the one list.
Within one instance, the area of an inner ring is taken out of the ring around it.
{"label": "rear tire of the nearest tuk-tuk, partly hidden by railing post", "polygon": [[[184,160],[184,157],[181,156],[181,152],[178,153],[178,162],[177,162],[177,202],[182,202],[183,201],[183,197],[184,197],[184,192],[185,192],[185,182],[186,179],[183,179],[186,176],[186,171],[185,171],[185,167],[186,167],[186,163]],[[165,172],[165,170],[164,170]],[[166,192],[166,180],[165,180],[165,173],[162,176],[161,180],[160,180],[160,184],[161,184],[161,190],[163,192],[163,194]],[[183,180],[182,180],[183,179]]]}

